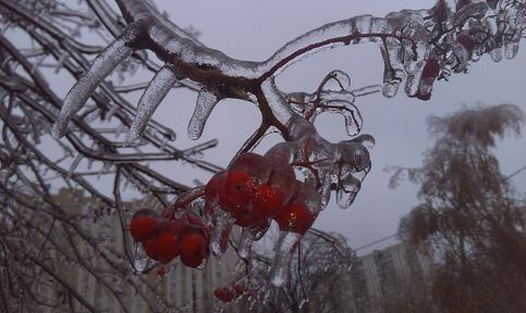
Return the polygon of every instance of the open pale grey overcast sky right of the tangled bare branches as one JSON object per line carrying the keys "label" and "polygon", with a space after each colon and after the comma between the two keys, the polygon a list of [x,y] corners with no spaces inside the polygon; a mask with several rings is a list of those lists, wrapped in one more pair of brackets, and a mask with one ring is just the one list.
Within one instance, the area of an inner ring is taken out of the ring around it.
{"label": "open pale grey overcast sky right of the tangled bare branches", "polygon": [[[426,9],[432,7],[435,1],[235,0],[184,1],[180,5],[172,1],[157,3],[179,26],[193,26],[201,32],[200,40],[208,47],[233,58],[264,60],[289,40],[325,23],[366,13],[384,16],[401,9]],[[430,114],[442,116],[463,104],[504,102],[518,104],[526,112],[526,52],[523,48],[513,60],[493,63],[486,55],[473,64],[469,74],[453,75],[449,83],[436,83],[432,98],[427,102],[409,99],[403,92],[393,99],[379,95],[358,99],[356,104],[365,120],[363,133],[371,134],[377,140],[370,151],[372,171],[350,209],[341,210],[331,200],[315,226],[343,234],[354,248],[394,234],[400,217],[417,203],[417,187],[407,183],[396,190],[390,190],[390,175],[383,168],[388,165],[421,164],[424,150],[432,146],[425,124]],[[282,90],[311,91],[328,72],[338,68],[350,74],[353,86],[359,88],[381,83],[382,66],[378,48],[372,43],[362,43],[320,52],[289,67],[277,82]],[[169,95],[155,117],[174,128],[178,147],[189,147],[196,143],[185,135],[195,95],[187,92],[182,97],[181,93]],[[258,111],[249,103],[221,102],[199,139],[219,139],[220,147],[210,151],[207,159],[227,165],[259,121]],[[331,141],[346,138],[340,115],[320,115],[316,126]],[[265,152],[277,140],[277,137],[269,138],[259,151]],[[502,172],[514,172],[526,165],[526,140],[507,138],[499,146],[498,155]],[[191,174],[192,168],[178,173],[187,175],[188,183],[192,181]],[[524,192],[526,173],[515,176],[514,183]],[[392,241],[383,245],[389,243]]]}

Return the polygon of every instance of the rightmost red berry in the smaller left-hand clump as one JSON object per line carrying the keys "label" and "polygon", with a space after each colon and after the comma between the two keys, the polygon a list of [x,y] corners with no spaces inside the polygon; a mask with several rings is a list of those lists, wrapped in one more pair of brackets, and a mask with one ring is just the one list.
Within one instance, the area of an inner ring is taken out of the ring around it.
{"label": "rightmost red berry in the smaller left-hand clump", "polygon": [[181,236],[180,249],[183,264],[198,267],[209,254],[208,236],[203,228],[187,226]]}

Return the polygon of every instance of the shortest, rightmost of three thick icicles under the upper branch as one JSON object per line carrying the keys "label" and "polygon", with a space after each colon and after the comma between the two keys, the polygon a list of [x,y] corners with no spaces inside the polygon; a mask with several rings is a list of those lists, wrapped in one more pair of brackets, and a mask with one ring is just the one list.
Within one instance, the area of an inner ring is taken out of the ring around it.
{"label": "shortest, rightmost of three thick icicles under the upper branch", "polygon": [[197,95],[197,101],[194,109],[194,114],[188,123],[188,138],[196,140],[199,139],[203,129],[205,129],[205,124],[210,116],[213,108],[218,103],[219,99],[216,93],[211,92],[207,88],[199,90]]}

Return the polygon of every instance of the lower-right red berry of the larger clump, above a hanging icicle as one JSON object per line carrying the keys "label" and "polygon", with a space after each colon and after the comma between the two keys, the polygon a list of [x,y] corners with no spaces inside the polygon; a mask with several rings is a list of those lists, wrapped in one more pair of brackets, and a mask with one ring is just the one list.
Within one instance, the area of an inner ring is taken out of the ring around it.
{"label": "lower-right red berry of the larger clump, above a hanging icicle", "polygon": [[274,220],[278,222],[281,230],[303,235],[313,225],[314,217],[314,214],[305,205],[293,203],[286,206]]}

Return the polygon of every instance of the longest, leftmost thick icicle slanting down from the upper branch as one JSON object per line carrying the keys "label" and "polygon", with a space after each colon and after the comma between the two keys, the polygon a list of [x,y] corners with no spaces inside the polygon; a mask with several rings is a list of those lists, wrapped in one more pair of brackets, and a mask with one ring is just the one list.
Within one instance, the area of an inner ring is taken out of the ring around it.
{"label": "longest, leftmost thick icicle slanting down from the upper branch", "polygon": [[119,63],[124,61],[133,52],[126,46],[124,38],[115,39],[105,51],[95,58],[91,67],[75,83],[64,99],[58,121],[51,128],[53,138],[62,138],[65,135],[68,123],[78,110],[86,103],[95,88],[108,76]]}

